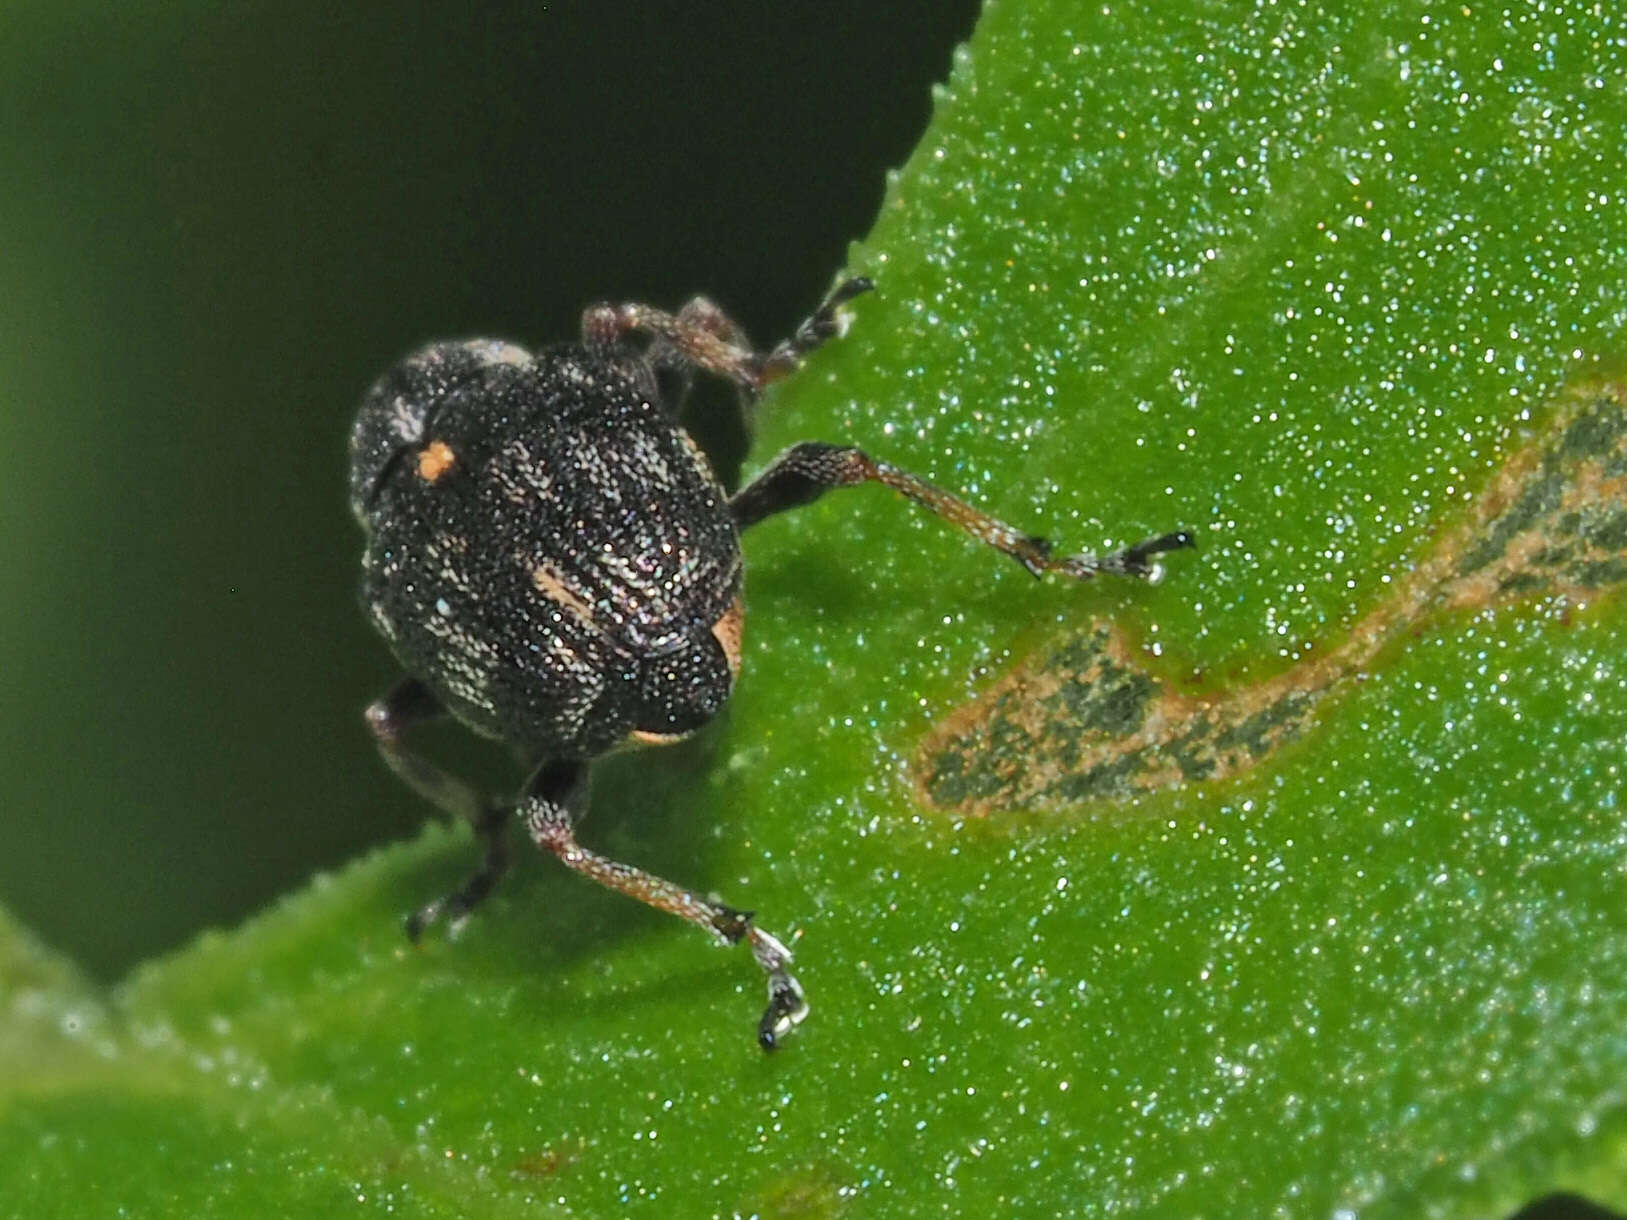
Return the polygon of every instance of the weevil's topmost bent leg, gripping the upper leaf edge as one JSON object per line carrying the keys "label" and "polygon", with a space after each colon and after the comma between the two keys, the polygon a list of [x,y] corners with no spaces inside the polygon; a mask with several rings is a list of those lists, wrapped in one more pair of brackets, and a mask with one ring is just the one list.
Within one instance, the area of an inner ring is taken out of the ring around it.
{"label": "weevil's topmost bent leg, gripping the upper leaf edge", "polygon": [[706,298],[690,301],[677,314],[633,303],[589,306],[582,314],[582,342],[608,348],[626,335],[646,333],[652,337],[652,350],[661,359],[682,358],[698,369],[729,377],[747,394],[757,394],[794,373],[807,353],[841,333],[843,322],[836,311],[872,286],[864,277],[843,280],[791,338],[768,351],[753,351],[740,327]]}

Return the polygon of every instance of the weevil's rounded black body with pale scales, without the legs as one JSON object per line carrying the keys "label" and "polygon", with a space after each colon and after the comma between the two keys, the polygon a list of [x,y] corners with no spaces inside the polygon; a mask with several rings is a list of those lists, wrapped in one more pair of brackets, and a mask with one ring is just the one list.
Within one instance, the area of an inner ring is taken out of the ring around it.
{"label": "weevil's rounded black body with pale scales, without the legs", "polygon": [[592,758],[722,706],[739,535],[641,358],[431,346],[377,386],[355,452],[363,603],[457,719]]}

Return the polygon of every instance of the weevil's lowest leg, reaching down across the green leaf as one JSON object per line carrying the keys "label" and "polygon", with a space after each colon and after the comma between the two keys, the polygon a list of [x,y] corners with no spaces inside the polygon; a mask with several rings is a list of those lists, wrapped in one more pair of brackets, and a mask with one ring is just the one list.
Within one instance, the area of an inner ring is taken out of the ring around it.
{"label": "weevil's lowest leg, reaching down across the green leaf", "polygon": [[727,945],[745,940],[757,965],[768,974],[768,1007],[758,1022],[757,1041],[765,1051],[773,1051],[779,1039],[809,1012],[802,984],[789,969],[791,950],[776,937],[753,926],[750,911],[735,911],[732,906],[703,898],[693,890],[635,869],[631,864],[622,864],[582,847],[576,841],[573,825],[586,797],[586,763],[573,760],[543,763],[526,782],[519,800],[519,815],[539,847],[553,852],[568,869],[582,877],[654,906],[657,911],[687,919]]}

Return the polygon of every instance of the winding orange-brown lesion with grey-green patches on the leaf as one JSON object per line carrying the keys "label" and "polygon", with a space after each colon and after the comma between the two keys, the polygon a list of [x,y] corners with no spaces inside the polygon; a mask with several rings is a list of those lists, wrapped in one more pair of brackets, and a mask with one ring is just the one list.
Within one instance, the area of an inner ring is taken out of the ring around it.
{"label": "winding orange-brown lesion with grey-green patches on the leaf", "polygon": [[1347,636],[1276,677],[1188,695],[1110,623],[1017,664],[923,739],[921,802],[1051,810],[1245,771],[1302,735],[1422,620],[1529,597],[1594,599],[1627,581],[1627,386],[1564,395],[1448,530]]}

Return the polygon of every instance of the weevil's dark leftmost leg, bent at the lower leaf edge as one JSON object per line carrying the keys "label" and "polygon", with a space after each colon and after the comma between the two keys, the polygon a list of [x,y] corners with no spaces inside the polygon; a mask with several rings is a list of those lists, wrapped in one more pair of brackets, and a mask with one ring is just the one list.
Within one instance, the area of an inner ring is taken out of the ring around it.
{"label": "weevil's dark leftmost leg, bent at the lower leaf edge", "polygon": [[473,826],[475,836],[485,847],[480,867],[470,874],[467,882],[444,898],[425,903],[407,916],[407,937],[410,940],[418,940],[426,927],[443,917],[454,924],[467,917],[486,900],[508,870],[509,807],[490,800],[473,786],[447,774],[402,745],[402,735],[415,724],[444,714],[441,701],[417,678],[402,680],[389,695],[368,706],[368,727],[373,730],[373,739],[390,771],[399,774],[425,800],[464,818]]}

